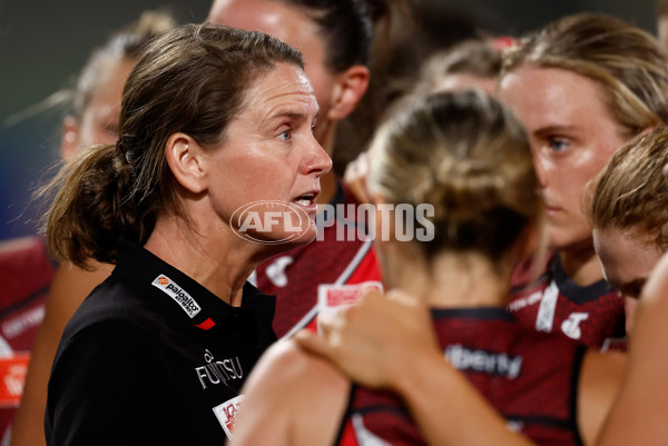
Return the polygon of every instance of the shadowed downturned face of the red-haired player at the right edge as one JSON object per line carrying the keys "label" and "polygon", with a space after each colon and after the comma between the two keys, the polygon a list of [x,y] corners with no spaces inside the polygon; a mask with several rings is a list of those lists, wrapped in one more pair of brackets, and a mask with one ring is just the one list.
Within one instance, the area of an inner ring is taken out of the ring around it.
{"label": "shadowed downturned face of the red-haired player at the right edge", "polygon": [[595,228],[593,247],[606,280],[625,298],[627,333],[630,333],[637,299],[664,251],[651,238],[632,229],[617,228]]}

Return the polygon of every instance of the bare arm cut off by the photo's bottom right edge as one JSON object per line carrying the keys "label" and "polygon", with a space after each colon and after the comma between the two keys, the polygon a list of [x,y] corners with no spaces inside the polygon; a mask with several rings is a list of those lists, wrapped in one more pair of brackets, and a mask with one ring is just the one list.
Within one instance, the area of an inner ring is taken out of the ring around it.
{"label": "bare arm cut off by the photo's bottom right edge", "polygon": [[619,397],[598,446],[668,443],[668,256],[664,255],[645,285],[629,345],[628,366]]}

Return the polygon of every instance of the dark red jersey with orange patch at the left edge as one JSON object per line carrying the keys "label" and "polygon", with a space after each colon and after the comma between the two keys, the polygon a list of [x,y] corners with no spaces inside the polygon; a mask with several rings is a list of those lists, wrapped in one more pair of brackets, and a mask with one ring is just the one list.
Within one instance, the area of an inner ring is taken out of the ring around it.
{"label": "dark red jersey with orange patch at the left edge", "polygon": [[53,272],[55,264],[38,237],[4,241],[0,247],[0,438],[6,437],[21,399]]}

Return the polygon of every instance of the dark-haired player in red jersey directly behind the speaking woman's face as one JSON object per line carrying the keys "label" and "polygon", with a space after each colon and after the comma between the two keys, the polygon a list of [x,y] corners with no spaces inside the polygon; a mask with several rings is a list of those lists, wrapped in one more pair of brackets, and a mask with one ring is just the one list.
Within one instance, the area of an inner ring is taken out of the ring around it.
{"label": "dark-haired player in red jersey directly behind the speaking woman's face", "polygon": [[[401,0],[216,0],[208,19],[266,32],[302,51],[322,110],[315,137],[336,165],[337,127],[370,86],[374,28],[393,3]],[[321,184],[318,204],[336,211],[318,214],[317,239],[269,259],[256,271],[257,287],[276,295],[274,329],[278,337],[315,328],[322,285],[361,286],[380,280],[371,241],[340,236],[366,230],[356,212],[340,211],[354,209],[357,200],[334,170],[323,176]]]}

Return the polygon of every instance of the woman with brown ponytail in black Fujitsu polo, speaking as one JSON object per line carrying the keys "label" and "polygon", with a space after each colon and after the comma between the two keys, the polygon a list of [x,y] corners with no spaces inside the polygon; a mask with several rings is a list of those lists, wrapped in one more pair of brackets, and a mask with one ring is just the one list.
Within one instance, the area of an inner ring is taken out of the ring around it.
{"label": "woman with brown ponytail in black Fujitsu polo, speaking", "polygon": [[[116,265],[63,333],[48,444],[229,436],[240,385],[275,339],[274,303],[246,279],[315,237],[331,168],[317,112],[299,52],[266,34],[189,24],[144,50],[116,143],[78,151],[42,189],[57,191],[45,216],[55,257]],[[233,216],[256,201],[278,204],[256,218],[279,210],[299,237],[277,244],[285,225],[243,237]]]}

